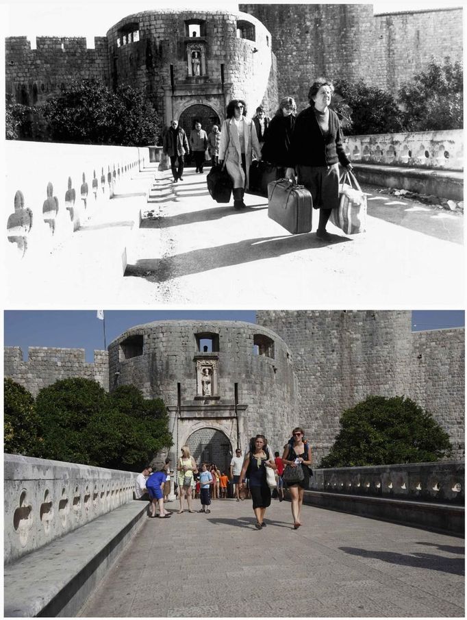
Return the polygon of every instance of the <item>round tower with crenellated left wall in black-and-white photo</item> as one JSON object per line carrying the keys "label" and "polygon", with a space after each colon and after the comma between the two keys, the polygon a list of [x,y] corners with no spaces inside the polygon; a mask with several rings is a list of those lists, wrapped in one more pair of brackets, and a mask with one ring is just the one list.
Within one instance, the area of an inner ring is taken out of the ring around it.
{"label": "round tower with crenellated left wall in black-and-white photo", "polygon": [[[131,84],[147,92],[165,123],[195,105],[210,106],[223,121],[234,97],[253,110],[277,101],[270,33],[248,14],[144,11],[95,42],[93,50],[85,38],[42,37],[31,49],[25,37],[7,38],[7,92],[18,103],[40,104],[71,79],[94,78],[112,88]],[[200,59],[198,75],[192,53]]]}

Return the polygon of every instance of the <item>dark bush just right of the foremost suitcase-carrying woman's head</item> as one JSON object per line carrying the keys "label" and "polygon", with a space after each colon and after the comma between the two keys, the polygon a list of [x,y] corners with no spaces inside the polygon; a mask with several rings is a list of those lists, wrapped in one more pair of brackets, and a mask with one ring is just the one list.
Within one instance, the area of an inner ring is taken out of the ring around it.
{"label": "dark bush just right of the foremost suitcase-carrying woman's head", "polygon": [[349,82],[336,79],[334,82],[336,99],[340,96],[340,106],[344,103],[350,108],[351,127],[346,134],[390,134],[402,129],[402,114],[390,92],[367,86],[362,79]]}

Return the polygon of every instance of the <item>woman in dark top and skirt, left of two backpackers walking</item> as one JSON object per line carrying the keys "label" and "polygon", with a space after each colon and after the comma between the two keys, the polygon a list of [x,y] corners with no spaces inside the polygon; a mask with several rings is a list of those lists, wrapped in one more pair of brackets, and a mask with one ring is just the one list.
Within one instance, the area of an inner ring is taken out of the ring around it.
{"label": "woman in dark top and skirt, left of two backpackers walking", "polygon": [[243,488],[243,479],[248,471],[253,512],[255,513],[255,528],[261,530],[266,527],[263,522],[266,508],[270,506],[270,488],[266,482],[266,467],[277,469],[273,454],[268,449],[268,441],[264,435],[257,435],[250,442],[250,451],[245,456],[242,471],[240,472],[239,489]]}

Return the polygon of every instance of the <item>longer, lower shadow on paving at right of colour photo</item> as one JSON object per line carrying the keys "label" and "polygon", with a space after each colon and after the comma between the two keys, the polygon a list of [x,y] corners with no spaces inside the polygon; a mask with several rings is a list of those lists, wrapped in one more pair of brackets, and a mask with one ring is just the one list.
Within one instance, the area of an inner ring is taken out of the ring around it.
{"label": "longer, lower shadow on paving at right of colour photo", "polygon": [[401,566],[412,566],[419,569],[431,569],[432,571],[441,571],[442,573],[452,573],[453,575],[464,575],[464,559],[463,558],[444,558],[433,554],[412,555],[396,554],[392,551],[368,551],[367,549],[357,549],[355,547],[338,547],[341,551],[352,556],[360,556],[362,558],[376,558],[390,564],[399,564]]}

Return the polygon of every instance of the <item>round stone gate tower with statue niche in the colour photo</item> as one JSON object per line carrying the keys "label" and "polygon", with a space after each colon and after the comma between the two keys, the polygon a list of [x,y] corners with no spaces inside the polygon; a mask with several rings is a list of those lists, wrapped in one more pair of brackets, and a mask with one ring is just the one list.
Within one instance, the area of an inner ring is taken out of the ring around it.
{"label": "round stone gate tower with statue niche in the colour photo", "polygon": [[[133,384],[168,408],[173,458],[225,469],[232,449],[264,433],[273,449],[290,436],[296,377],[290,349],[267,327],[242,321],[155,321],[131,327],[109,348],[110,389]],[[175,462],[175,460],[173,460]]]}

